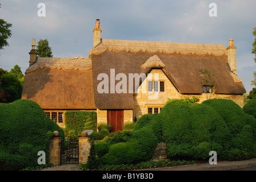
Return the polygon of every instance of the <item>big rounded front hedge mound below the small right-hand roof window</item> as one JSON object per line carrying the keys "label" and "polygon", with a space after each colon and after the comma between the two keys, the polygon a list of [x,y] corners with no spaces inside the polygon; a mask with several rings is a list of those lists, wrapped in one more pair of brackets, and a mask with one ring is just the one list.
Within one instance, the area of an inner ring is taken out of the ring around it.
{"label": "big rounded front hedge mound below the small right-hand roof window", "polygon": [[162,108],[159,117],[171,158],[206,159],[210,151],[223,156],[229,147],[230,131],[210,106],[173,100]]}

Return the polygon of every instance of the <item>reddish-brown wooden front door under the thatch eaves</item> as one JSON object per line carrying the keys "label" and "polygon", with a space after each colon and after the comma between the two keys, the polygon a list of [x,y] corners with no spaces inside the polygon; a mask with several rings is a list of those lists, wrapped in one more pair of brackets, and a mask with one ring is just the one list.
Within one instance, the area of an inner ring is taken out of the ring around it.
{"label": "reddish-brown wooden front door under the thatch eaves", "polygon": [[111,132],[123,130],[123,110],[107,110],[107,123]]}

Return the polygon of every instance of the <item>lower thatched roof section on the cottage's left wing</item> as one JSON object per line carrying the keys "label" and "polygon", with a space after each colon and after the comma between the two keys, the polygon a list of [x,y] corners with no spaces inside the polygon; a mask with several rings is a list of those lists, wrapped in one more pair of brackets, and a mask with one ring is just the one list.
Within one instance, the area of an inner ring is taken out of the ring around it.
{"label": "lower thatched roof section on the cottage's left wing", "polygon": [[90,59],[43,58],[26,70],[22,98],[42,109],[96,109]]}

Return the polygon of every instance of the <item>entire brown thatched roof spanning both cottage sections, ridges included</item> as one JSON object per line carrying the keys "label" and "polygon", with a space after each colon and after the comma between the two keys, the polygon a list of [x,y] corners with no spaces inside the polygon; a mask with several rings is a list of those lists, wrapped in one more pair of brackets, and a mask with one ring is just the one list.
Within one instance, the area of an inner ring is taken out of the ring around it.
{"label": "entire brown thatched roof spanning both cottage sections, ridges included", "polygon": [[199,69],[205,68],[215,74],[215,92],[245,93],[221,44],[102,39],[90,51],[90,59],[38,57],[26,70],[22,98],[43,109],[133,109],[134,93],[128,86],[127,93],[99,93],[102,80],[97,77],[106,73],[110,78],[110,69],[115,69],[115,76],[125,73],[128,83],[129,73],[146,74],[152,68],[162,69],[181,94],[201,94]]}

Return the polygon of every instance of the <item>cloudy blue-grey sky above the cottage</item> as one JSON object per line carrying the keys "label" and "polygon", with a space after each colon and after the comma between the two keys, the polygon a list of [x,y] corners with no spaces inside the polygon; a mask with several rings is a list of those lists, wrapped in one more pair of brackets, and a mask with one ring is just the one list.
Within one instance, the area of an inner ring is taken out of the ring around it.
{"label": "cloudy blue-grey sky above the cottage", "polygon": [[[251,53],[255,0],[1,0],[0,18],[13,24],[9,47],[0,50],[0,68],[29,67],[32,39],[47,39],[53,57],[88,57],[95,20],[103,39],[223,44],[234,39],[237,75],[246,92],[256,63]],[[39,3],[45,4],[45,16]],[[216,10],[209,5],[215,3]],[[210,14],[216,16],[210,16]]]}

